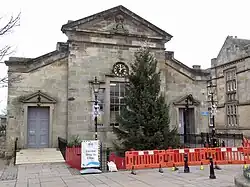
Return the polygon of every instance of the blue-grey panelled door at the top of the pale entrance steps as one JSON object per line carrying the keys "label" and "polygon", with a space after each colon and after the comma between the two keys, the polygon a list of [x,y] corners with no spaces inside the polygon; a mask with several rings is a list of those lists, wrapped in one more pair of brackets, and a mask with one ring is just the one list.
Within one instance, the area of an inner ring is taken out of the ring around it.
{"label": "blue-grey panelled door at the top of the pale entrance steps", "polygon": [[49,107],[28,107],[28,148],[49,147]]}

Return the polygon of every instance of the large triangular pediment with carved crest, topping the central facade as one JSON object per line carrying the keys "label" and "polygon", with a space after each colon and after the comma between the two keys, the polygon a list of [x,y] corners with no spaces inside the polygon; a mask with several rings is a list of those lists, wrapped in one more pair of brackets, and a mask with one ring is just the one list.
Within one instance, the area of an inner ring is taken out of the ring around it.
{"label": "large triangular pediment with carved crest, topping the central facade", "polygon": [[77,21],[71,21],[62,26],[63,32],[67,30],[144,35],[167,41],[172,37],[121,5]]}

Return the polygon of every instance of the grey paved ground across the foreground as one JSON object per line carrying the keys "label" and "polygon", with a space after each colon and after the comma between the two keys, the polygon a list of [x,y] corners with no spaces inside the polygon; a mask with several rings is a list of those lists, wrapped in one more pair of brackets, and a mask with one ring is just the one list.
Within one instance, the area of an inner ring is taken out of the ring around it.
{"label": "grey paved ground across the foreground", "polygon": [[221,166],[216,179],[209,179],[209,168],[190,167],[190,173],[164,168],[80,175],[63,163],[26,164],[0,169],[0,187],[233,187],[234,176],[242,173],[242,165]]}

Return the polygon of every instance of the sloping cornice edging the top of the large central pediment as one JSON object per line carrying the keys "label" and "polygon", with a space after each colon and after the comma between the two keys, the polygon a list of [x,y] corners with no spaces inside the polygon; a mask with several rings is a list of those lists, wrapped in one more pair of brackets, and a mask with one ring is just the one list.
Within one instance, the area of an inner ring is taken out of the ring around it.
{"label": "sloping cornice edging the top of the large central pediment", "polygon": [[99,13],[87,16],[87,17],[82,18],[82,19],[78,19],[76,21],[66,23],[66,24],[62,25],[61,31],[63,33],[65,33],[65,31],[67,31],[67,28],[76,26],[78,24],[78,22],[91,21],[91,20],[94,20],[96,17],[100,16],[101,14],[106,14],[109,11],[117,10],[117,9],[123,11],[124,13],[128,12],[127,14],[130,15],[130,16],[132,16],[132,15],[136,16],[139,19],[138,21],[142,22],[144,25],[146,25],[149,28],[150,28],[150,26],[152,26],[153,28],[151,28],[151,29],[157,30],[159,34],[164,35],[165,37],[168,37],[169,40],[173,37],[171,34],[169,34],[166,31],[160,29],[159,27],[155,26],[154,24],[150,23],[149,21],[145,20],[144,18],[140,17],[139,15],[137,15],[136,13],[130,11],[129,9],[127,9],[126,7],[124,7],[122,5],[119,5],[119,6],[116,6],[116,7],[101,11]]}

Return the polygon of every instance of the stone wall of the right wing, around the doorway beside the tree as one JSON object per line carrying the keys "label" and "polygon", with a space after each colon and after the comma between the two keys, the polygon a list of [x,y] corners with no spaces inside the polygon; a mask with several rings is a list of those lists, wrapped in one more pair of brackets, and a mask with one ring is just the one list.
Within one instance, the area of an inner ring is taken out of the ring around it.
{"label": "stone wall of the right wing, around the doorway beside the tree", "polygon": [[[172,104],[176,99],[192,94],[194,99],[198,100],[200,104],[195,107],[195,132],[201,133],[208,130],[208,116],[202,116],[201,112],[205,112],[208,109],[208,103],[205,102],[207,98],[207,76],[199,76],[198,78],[191,72],[181,67],[174,68],[173,62],[166,61],[167,66],[165,68],[166,76],[166,99],[169,104]],[[198,79],[198,80],[196,80]],[[181,107],[185,107],[183,104]],[[178,107],[171,105],[170,116],[171,126],[179,126],[179,114]]]}

